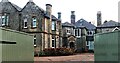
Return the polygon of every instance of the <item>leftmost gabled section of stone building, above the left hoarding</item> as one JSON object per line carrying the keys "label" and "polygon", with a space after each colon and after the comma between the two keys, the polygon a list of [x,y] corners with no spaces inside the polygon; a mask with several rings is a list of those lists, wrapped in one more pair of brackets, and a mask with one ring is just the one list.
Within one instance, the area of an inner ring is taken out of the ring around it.
{"label": "leftmost gabled section of stone building, above the left hoarding", "polygon": [[0,2],[0,27],[19,31],[20,10],[21,8],[17,5],[8,0],[2,0]]}

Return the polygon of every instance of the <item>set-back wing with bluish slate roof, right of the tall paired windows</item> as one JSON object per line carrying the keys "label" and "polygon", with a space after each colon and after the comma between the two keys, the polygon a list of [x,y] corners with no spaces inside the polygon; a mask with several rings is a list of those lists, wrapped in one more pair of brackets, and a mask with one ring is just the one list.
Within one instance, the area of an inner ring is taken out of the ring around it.
{"label": "set-back wing with bluish slate roof, right of the tall paired windows", "polygon": [[84,19],[78,20],[75,25],[77,27],[85,27],[86,28],[86,47],[88,50],[93,50],[94,49],[94,34],[96,30],[96,26],[93,25],[91,22],[88,22]]}

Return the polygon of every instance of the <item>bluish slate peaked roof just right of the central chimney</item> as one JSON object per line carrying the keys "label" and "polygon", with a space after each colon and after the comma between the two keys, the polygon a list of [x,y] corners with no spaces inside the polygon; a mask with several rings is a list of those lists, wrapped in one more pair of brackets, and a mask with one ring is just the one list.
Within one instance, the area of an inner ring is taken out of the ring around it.
{"label": "bluish slate peaked roof just right of the central chimney", "polygon": [[84,20],[84,19],[78,20],[78,21],[75,23],[75,26],[76,26],[76,27],[83,27],[83,26],[85,26],[88,30],[96,29],[95,25],[87,22],[87,21]]}

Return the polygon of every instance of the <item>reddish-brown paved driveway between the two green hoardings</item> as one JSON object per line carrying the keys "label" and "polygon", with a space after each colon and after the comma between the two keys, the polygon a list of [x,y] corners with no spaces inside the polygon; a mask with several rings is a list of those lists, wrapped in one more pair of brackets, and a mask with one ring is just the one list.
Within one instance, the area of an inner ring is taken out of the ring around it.
{"label": "reddish-brown paved driveway between the two green hoardings", "polygon": [[94,54],[81,53],[70,56],[35,57],[34,61],[94,61]]}

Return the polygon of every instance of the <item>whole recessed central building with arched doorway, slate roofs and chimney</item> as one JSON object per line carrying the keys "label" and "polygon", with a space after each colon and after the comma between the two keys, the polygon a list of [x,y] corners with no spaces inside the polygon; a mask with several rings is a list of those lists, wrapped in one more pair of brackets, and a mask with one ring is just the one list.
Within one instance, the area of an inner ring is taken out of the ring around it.
{"label": "whole recessed central building with arched doorway, slate roofs and chimney", "polygon": [[62,24],[63,46],[75,48],[78,51],[93,50],[96,27],[84,19],[75,22],[74,13],[74,11],[71,12],[71,23]]}

